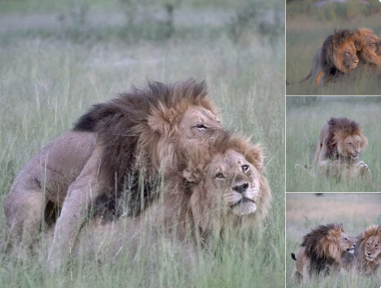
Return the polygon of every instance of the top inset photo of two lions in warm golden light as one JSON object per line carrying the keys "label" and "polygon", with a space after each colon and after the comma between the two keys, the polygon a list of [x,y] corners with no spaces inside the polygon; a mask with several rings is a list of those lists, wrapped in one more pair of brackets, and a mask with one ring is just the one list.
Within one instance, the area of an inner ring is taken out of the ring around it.
{"label": "top inset photo of two lions in warm golden light", "polygon": [[380,1],[286,0],[286,96],[380,95]]}

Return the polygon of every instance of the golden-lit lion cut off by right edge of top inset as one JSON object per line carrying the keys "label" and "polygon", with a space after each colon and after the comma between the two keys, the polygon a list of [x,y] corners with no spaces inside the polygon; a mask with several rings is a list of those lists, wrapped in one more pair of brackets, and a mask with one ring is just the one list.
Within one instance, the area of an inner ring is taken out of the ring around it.
{"label": "golden-lit lion cut off by right edge of top inset", "polygon": [[380,71],[381,41],[372,30],[358,27],[353,30],[356,54],[362,64],[373,65]]}

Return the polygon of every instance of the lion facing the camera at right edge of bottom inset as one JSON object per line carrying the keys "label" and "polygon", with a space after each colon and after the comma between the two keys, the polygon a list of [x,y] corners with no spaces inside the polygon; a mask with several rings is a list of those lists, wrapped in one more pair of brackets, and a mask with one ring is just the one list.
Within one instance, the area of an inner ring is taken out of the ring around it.
{"label": "lion facing the camera at right edge of bottom inset", "polygon": [[380,225],[371,225],[356,239],[356,253],[347,257],[345,267],[356,269],[360,274],[376,274],[380,269]]}

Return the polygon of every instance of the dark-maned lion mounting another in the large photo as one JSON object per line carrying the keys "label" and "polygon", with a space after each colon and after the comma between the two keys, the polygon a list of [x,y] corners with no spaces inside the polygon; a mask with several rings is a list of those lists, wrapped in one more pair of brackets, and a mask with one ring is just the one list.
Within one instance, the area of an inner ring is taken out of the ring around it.
{"label": "dark-maned lion mounting another in the large photo", "polygon": [[115,199],[130,199],[131,213],[138,214],[154,198],[159,179],[182,168],[186,152],[208,148],[222,130],[206,96],[205,82],[149,82],[93,106],[16,176],[3,204],[12,246],[30,247],[46,209],[60,208],[48,256],[54,270],[92,203],[101,199],[110,210]]}

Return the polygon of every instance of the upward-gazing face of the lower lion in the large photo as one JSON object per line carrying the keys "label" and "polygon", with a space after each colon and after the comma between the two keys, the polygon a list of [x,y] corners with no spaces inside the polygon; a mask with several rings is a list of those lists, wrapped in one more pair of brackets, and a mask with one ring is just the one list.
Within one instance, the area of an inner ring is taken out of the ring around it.
{"label": "upward-gazing face of the lower lion in the large photo", "polygon": [[205,191],[219,212],[245,216],[257,210],[259,174],[244,155],[229,150],[213,157],[205,174]]}

